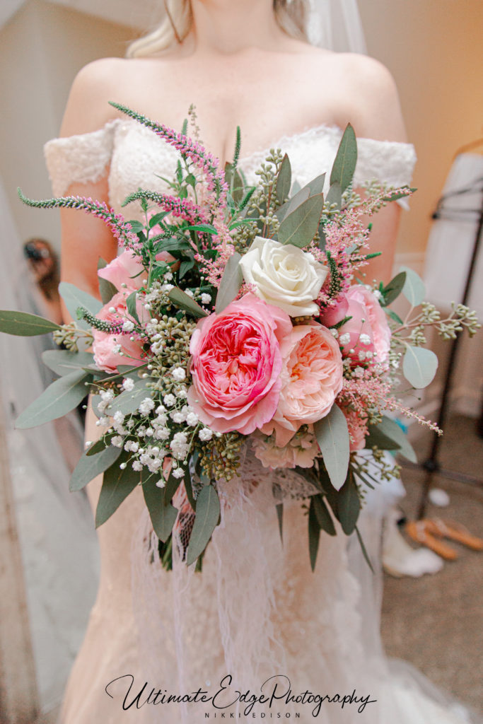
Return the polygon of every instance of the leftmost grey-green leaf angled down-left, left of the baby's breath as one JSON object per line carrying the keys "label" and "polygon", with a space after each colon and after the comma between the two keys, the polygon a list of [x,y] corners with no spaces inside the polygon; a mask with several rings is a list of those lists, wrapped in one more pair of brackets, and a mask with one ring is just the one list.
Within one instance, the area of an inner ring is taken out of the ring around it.
{"label": "leftmost grey-green leaf angled down-left, left of the baby's breath", "polygon": [[91,380],[91,375],[82,369],[56,379],[18,416],[15,427],[23,430],[66,415],[88,395],[85,382]]}

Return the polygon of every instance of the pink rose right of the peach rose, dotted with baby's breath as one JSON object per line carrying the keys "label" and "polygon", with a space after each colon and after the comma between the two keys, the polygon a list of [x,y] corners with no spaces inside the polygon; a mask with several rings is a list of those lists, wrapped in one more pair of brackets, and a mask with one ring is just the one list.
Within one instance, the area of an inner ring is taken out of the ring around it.
{"label": "pink rose right of the peach rose, dotted with baby's breath", "polygon": [[356,364],[364,364],[373,359],[376,362],[386,362],[391,330],[374,293],[362,284],[353,285],[335,308],[322,313],[321,319],[324,324],[332,325],[346,316],[352,319],[338,329],[338,341],[344,357],[352,358]]}

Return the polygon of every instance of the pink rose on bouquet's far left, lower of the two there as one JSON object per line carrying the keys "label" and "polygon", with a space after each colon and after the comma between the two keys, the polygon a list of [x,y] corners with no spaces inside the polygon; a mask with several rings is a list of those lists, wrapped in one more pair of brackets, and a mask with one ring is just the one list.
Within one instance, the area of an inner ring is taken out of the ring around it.
{"label": "pink rose on bouquet's far left, lower of the two there", "polygon": [[[126,307],[126,297],[129,294],[130,290],[117,292],[112,300],[98,312],[97,318],[121,323],[126,318],[131,319],[127,314]],[[115,311],[109,311],[113,307]],[[140,340],[130,340],[129,334],[108,334],[107,332],[100,332],[98,329],[93,329],[92,333],[94,337],[92,345],[94,362],[99,369],[106,372],[116,372],[118,365],[135,366],[143,362],[143,345]],[[119,354],[117,349],[119,345],[122,355]]]}

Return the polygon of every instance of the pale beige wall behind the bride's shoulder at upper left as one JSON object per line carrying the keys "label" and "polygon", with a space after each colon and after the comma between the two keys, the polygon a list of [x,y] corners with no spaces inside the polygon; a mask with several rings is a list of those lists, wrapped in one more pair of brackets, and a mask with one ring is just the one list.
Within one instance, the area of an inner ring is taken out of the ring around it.
{"label": "pale beige wall behind the bride's shoulder at upper left", "polygon": [[72,80],[93,59],[123,56],[130,38],[133,30],[42,0],[25,3],[1,28],[0,169],[23,240],[40,235],[59,245],[57,212],[22,206],[17,186],[51,196],[42,148],[59,132]]}

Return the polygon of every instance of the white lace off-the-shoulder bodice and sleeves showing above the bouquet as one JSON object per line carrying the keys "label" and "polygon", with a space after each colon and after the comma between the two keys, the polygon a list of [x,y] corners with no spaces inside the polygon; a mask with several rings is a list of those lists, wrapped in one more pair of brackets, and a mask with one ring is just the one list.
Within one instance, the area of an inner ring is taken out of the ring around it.
{"label": "white lace off-the-shoulder bodice and sleeves showing above the bouquet", "polygon": [[[293,175],[301,185],[329,171],[337,152],[342,130],[319,125],[294,135],[285,135],[272,143],[288,153]],[[269,149],[264,148],[240,159],[248,182]],[[67,193],[74,182],[96,182],[109,167],[109,201],[116,211],[128,193],[138,187],[164,191],[159,176],[175,173],[177,152],[154,132],[132,119],[115,119],[103,128],[69,138],[54,138],[46,143],[45,155],[54,195]],[[411,181],[416,153],[410,143],[358,139],[358,163],[354,181],[377,179],[400,186]],[[328,179],[327,179],[328,182]],[[135,216],[134,207],[130,216]]]}

